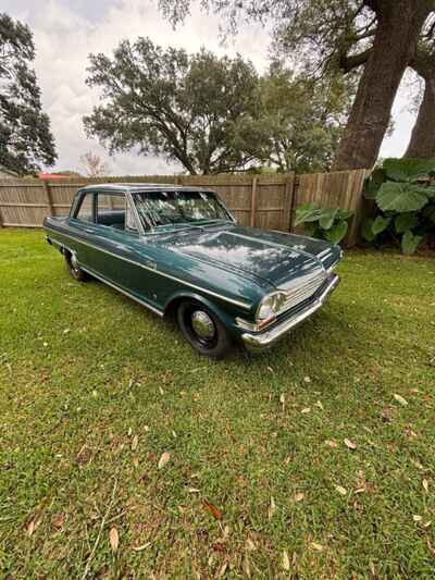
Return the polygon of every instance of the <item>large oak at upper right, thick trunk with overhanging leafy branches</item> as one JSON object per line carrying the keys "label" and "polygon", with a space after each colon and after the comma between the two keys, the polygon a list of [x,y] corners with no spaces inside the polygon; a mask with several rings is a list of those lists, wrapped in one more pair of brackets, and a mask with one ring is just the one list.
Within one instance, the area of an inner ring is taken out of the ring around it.
{"label": "large oak at upper right, thick trunk with overhanging leafy branches", "polygon": [[[203,0],[237,23],[269,18],[278,40],[295,48],[313,69],[331,63],[351,71],[362,65],[353,106],[335,159],[335,169],[372,166],[387,131],[403,72],[415,55],[434,0]],[[188,12],[189,0],[161,0],[174,21]],[[279,42],[278,42],[279,44]],[[311,61],[311,62],[310,62]]]}

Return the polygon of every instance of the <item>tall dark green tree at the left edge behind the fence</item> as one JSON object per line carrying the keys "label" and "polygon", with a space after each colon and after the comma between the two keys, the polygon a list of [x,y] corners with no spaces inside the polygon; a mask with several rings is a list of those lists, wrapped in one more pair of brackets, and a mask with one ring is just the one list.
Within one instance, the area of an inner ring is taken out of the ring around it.
{"label": "tall dark green tree at the left edge behind the fence", "polygon": [[30,63],[35,47],[29,28],[0,14],[0,163],[16,173],[52,165],[57,155],[50,122]]}

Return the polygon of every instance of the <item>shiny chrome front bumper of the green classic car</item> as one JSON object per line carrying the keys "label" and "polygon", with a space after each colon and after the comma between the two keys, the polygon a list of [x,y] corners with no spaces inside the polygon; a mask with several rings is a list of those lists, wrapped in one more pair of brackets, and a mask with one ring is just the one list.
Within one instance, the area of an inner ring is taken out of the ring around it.
{"label": "shiny chrome front bumper of the green classic car", "polygon": [[273,326],[269,331],[259,332],[259,333],[251,333],[251,332],[245,332],[241,335],[241,340],[245,343],[245,346],[249,350],[261,350],[263,348],[269,348],[273,344],[276,343],[279,338],[282,338],[287,332],[289,332],[291,329],[300,324],[303,320],[311,317],[319,308],[321,308],[327,298],[330,297],[330,294],[338,286],[339,277],[337,274],[332,274],[330,277],[330,282],[327,286],[324,288],[322,294],[315,298],[315,300],[307,306],[306,309],[301,310],[300,312],[297,312],[294,317],[283,320],[279,324],[276,324],[276,326]]}

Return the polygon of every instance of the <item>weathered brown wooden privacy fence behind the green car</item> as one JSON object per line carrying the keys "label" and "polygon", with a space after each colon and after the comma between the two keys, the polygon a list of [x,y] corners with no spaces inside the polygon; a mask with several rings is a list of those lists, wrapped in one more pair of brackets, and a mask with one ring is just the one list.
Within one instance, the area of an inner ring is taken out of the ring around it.
{"label": "weathered brown wooden privacy fence behind the green car", "polygon": [[355,211],[347,245],[358,242],[364,207],[362,185],[366,170],[335,173],[171,175],[141,177],[0,181],[0,226],[40,227],[46,215],[69,212],[76,190],[98,183],[167,183],[210,188],[224,200],[241,225],[295,231],[295,210],[306,202]]}

